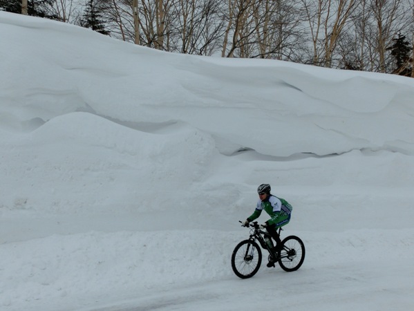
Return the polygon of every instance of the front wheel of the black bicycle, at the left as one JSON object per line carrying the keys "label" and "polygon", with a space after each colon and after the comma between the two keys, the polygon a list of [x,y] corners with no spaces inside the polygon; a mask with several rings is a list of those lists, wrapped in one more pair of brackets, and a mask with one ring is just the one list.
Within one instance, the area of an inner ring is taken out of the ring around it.
{"label": "front wheel of the black bicycle, at the left", "polygon": [[258,244],[245,240],[234,247],[232,269],[241,279],[251,278],[258,272],[262,263],[262,252]]}

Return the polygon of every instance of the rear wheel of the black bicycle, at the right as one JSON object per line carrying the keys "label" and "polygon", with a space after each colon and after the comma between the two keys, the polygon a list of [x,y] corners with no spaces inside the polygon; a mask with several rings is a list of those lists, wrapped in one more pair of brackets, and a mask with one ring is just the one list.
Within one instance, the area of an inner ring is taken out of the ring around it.
{"label": "rear wheel of the black bicycle, at the right", "polygon": [[287,272],[298,270],[305,260],[305,245],[297,236],[288,236],[282,241],[283,249],[279,265]]}

